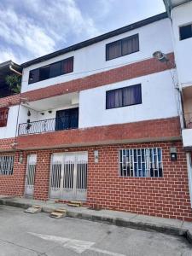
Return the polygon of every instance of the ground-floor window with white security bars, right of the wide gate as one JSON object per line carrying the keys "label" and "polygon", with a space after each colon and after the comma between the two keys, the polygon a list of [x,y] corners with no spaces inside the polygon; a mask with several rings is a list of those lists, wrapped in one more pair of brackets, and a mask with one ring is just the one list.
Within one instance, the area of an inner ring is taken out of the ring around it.
{"label": "ground-floor window with white security bars, right of the wide gate", "polygon": [[163,177],[161,148],[129,148],[119,151],[122,177]]}

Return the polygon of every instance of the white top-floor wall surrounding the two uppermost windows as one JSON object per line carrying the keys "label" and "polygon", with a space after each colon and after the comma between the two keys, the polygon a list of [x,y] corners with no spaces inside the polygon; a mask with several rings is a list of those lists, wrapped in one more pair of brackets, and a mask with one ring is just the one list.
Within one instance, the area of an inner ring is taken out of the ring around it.
{"label": "white top-floor wall surrounding the two uppermost windows", "polygon": [[[92,44],[88,47],[60,55],[52,58],[49,61],[40,62],[38,64],[27,67],[23,70],[22,78],[22,92],[27,90],[35,90],[46,87],[52,84],[66,82],[68,80],[81,78],[91,73],[102,72],[110,68],[119,67],[134,61],[142,61],[143,59],[151,58],[154,51],[160,49],[165,53],[172,52],[172,38],[171,38],[171,22],[169,19],[159,20],[147,26],[140,27],[131,32],[125,32],[119,36],[108,38],[102,42]],[[140,51],[131,55],[125,55],[111,61],[106,61],[106,44],[116,41],[120,38],[139,33]],[[74,56],[73,73],[58,76],[53,79],[47,79],[38,83],[28,84],[29,71],[49,65],[55,61],[61,61],[67,57]]]}

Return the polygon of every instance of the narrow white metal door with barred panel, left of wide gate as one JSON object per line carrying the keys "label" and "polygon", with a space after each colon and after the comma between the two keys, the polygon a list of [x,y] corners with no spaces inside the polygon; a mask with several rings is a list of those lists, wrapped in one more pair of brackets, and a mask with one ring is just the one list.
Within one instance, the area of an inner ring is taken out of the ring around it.
{"label": "narrow white metal door with barred panel, left of wide gate", "polygon": [[27,166],[26,166],[26,196],[33,195],[36,164],[37,164],[37,154],[29,154],[27,156]]}

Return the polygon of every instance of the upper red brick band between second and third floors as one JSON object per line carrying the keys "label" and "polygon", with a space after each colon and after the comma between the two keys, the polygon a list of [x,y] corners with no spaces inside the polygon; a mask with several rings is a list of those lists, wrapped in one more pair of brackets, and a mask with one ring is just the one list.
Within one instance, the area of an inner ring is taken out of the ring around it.
{"label": "upper red brick band between second and third floors", "polygon": [[20,95],[5,97],[0,99],[0,107],[18,105],[20,96],[22,98],[27,98],[28,102],[32,102],[51,96],[59,96],[70,92],[96,88],[105,84],[113,84],[127,79],[134,79],[152,73],[159,73],[174,68],[172,64],[174,63],[174,54],[168,54],[168,58],[170,59],[168,64],[160,63],[160,61],[151,58],[144,61],[137,61],[123,67],[113,68],[101,73],[95,73],[82,79],[73,79],[65,83],[53,84],[46,88],[27,91]]}

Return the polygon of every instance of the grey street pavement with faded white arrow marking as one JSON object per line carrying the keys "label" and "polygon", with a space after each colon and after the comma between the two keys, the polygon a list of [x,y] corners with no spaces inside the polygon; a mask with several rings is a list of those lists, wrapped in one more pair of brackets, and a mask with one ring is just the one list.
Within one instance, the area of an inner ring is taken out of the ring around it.
{"label": "grey street pavement with faded white arrow marking", "polygon": [[192,256],[183,237],[0,206],[0,256]]}

